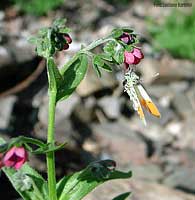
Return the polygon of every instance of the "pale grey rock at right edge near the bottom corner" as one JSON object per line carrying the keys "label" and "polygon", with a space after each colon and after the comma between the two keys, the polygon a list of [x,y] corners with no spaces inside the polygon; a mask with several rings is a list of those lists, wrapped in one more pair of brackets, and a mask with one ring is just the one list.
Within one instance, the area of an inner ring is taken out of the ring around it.
{"label": "pale grey rock at right edge near the bottom corner", "polygon": [[163,183],[169,187],[195,193],[195,170],[187,167],[175,167],[173,173],[166,176]]}

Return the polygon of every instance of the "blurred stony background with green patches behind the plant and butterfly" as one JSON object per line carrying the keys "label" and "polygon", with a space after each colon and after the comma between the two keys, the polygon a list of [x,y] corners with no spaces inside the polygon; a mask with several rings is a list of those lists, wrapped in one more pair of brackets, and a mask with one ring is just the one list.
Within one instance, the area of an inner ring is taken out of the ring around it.
{"label": "blurred stony background with green patches behind the plant and butterfly", "polygon": [[[132,200],[195,200],[195,9],[194,0],[188,2],[192,6],[174,8],[153,1],[1,0],[0,137],[46,140],[45,62],[27,42],[29,36],[67,18],[73,43],[57,55],[62,66],[81,44],[130,26],[145,55],[137,70],[162,117],[146,113],[145,127],[123,93],[122,70],[98,78],[89,66],[76,92],[57,106],[56,140],[68,141],[56,153],[57,176],[113,159],[119,169],[133,170],[133,178],[106,183],[85,200],[110,200],[126,191],[132,191]],[[44,156],[29,161],[46,177]],[[19,199],[4,174],[0,196]]]}

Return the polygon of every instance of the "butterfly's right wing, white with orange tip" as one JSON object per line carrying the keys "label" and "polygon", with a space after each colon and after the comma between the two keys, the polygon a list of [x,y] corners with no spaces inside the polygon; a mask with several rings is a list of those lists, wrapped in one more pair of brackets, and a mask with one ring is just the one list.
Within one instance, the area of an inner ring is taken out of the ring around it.
{"label": "butterfly's right wing, white with orange tip", "polygon": [[158,108],[152,102],[151,98],[147,94],[147,92],[144,89],[144,87],[141,84],[137,84],[134,87],[135,87],[138,99],[140,101],[140,104],[144,108],[146,108],[155,117],[160,117],[160,112],[159,112]]}

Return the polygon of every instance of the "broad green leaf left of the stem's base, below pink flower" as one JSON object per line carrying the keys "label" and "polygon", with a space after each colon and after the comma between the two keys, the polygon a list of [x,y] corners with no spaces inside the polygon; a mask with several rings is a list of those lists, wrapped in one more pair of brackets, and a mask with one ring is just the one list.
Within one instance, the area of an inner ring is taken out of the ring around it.
{"label": "broad green leaf left of the stem's base, below pink flower", "polygon": [[[5,141],[0,138],[0,145]],[[24,164],[20,170],[3,167],[6,174],[16,191],[24,200],[48,200],[47,182],[43,177],[32,169],[28,164]],[[18,176],[18,173],[21,175]],[[19,177],[21,177],[19,179]],[[25,177],[25,179],[23,178]],[[28,180],[28,184],[27,181]],[[32,183],[32,185],[30,185]]]}

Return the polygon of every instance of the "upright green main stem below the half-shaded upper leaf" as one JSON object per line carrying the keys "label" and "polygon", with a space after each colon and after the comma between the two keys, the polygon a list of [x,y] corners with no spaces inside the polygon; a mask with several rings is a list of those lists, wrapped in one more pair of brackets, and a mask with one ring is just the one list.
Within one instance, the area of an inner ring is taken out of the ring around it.
{"label": "upright green main stem below the half-shaded upper leaf", "polygon": [[[56,92],[49,91],[48,134],[47,134],[48,143],[54,143],[55,141],[54,137],[55,107],[56,107]],[[57,200],[54,152],[47,153],[46,157],[47,157],[49,200]]]}

